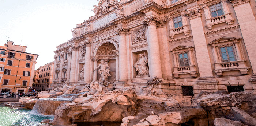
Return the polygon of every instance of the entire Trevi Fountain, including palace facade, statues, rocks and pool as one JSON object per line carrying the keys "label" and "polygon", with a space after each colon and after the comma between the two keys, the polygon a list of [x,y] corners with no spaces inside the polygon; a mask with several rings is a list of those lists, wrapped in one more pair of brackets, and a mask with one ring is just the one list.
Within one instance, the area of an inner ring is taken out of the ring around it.
{"label": "entire Trevi Fountain, including palace facade, statues, rocks and pool", "polygon": [[40,123],[12,125],[256,126],[256,35],[245,30],[256,29],[255,5],[99,0],[56,47],[50,91],[9,103],[0,114],[17,118],[2,122],[22,115]]}

